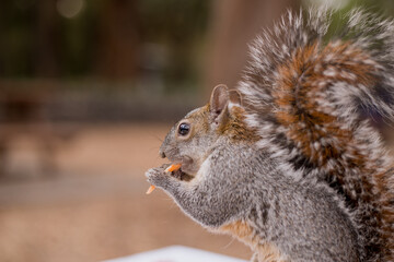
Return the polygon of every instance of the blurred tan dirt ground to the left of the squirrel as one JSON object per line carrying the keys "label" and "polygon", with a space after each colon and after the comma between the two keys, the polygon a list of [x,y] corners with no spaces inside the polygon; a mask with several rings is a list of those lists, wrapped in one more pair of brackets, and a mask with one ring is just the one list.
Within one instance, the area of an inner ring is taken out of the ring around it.
{"label": "blurred tan dirt ground to the left of the squirrel", "polygon": [[[144,194],[167,130],[79,126],[50,154],[42,138],[13,138],[0,180],[0,261],[100,261],[171,245],[248,259],[247,247],[207,233],[160,190]],[[44,174],[48,160],[55,168]]]}

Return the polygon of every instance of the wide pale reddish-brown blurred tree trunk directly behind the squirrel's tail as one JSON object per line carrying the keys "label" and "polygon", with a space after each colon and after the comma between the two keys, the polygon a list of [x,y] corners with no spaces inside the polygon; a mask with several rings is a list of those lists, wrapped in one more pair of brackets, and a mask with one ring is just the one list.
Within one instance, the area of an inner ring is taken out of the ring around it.
{"label": "wide pale reddish-brown blurred tree trunk directly behind the squirrel's tail", "polygon": [[247,61],[247,44],[288,9],[299,7],[297,0],[216,0],[209,32],[206,67],[206,93],[215,85],[234,87]]}

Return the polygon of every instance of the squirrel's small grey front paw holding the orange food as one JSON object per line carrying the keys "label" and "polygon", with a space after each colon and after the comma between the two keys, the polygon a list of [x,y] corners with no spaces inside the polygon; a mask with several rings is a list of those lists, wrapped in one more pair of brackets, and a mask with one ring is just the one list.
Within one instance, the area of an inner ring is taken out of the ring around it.
{"label": "squirrel's small grey front paw holding the orange food", "polygon": [[174,187],[178,186],[178,181],[173,176],[165,172],[165,168],[169,165],[163,165],[161,167],[151,168],[146,172],[148,182],[154,187],[162,188],[166,191],[171,191]]}

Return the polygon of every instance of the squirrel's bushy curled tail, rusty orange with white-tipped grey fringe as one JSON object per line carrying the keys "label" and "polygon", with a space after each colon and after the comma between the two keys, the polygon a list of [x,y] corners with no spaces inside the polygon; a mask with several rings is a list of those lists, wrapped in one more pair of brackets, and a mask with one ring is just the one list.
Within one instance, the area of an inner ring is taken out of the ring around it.
{"label": "squirrel's bushy curled tail, rusty orange with white-tipped grey fringe", "polygon": [[370,119],[394,116],[394,22],[354,10],[289,12],[251,48],[237,90],[258,146],[294,176],[326,181],[354,212],[362,261],[394,261],[394,166]]}

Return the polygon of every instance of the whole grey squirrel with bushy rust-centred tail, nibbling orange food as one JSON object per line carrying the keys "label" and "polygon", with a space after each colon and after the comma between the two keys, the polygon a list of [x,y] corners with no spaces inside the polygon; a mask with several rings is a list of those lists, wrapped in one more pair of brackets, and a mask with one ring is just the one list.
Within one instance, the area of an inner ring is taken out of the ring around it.
{"label": "whole grey squirrel with bushy rust-centred tail, nibbling orange food", "polygon": [[394,165],[362,112],[394,116],[394,21],[360,9],[282,16],[242,81],[167,133],[148,181],[252,261],[394,261]]}

